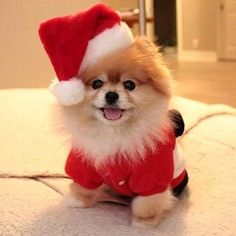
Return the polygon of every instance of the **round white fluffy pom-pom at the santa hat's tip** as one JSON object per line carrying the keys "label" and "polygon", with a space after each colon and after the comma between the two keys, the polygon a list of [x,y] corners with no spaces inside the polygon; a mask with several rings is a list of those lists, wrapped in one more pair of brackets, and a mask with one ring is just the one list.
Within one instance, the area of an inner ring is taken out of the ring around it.
{"label": "round white fluffy pom-pom at the santa hat's tip", "polygon": [[58,81],[56,78],[49,86],[50,91],[56,96],[58,102],[64,106],[80,103],[85,96],[85,86],[81,79],[71,78],[67,81]]}

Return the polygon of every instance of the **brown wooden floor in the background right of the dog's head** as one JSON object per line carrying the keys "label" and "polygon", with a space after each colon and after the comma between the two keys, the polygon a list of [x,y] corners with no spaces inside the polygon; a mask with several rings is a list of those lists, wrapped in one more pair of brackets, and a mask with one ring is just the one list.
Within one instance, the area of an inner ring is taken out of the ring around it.
{"label": "brown wooden floor in the background right of the dog's head", "polygon": [[165,61],[177,81],[177,95],[236,107],[236,61],[180,62],[174,56]]}

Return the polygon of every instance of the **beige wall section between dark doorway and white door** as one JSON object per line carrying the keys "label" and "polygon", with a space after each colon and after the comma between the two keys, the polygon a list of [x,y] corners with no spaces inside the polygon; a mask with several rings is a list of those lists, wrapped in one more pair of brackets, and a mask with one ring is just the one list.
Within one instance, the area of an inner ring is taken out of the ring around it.
{"label": "beige wall section between dark doorway and white door", "polygon": [[[181,2],[183,50],[216,51],[218,1],[182,0]],[[194,39],[198,41],[196,48]]]}

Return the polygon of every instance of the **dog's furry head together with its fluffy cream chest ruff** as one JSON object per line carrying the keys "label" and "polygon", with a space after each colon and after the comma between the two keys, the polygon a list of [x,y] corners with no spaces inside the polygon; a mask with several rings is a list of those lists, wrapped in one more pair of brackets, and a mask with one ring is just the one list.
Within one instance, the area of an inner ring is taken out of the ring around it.
{"label": "dog's furry head together with its fluffy cream chest ruff", "polygon": [[104,160],[117,152],[142,157],[155,148],[168,123],[169,72],[157,48],[138,38],[125,49],[107,55],[84,70],[84,100],[62,107],[73,143],[87,156]]}

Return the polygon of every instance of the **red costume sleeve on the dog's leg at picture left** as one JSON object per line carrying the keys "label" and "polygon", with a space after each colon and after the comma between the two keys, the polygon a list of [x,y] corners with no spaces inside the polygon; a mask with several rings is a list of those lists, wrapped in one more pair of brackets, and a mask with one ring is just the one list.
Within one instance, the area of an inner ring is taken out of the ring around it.
{"label": "red costume sleeve on the dog's leg at picture left", "polygon": [[103,183],[94,166],[77,150],[71,150],[66,161],[65,171],[75,183],[84,188],[95,189]]}

